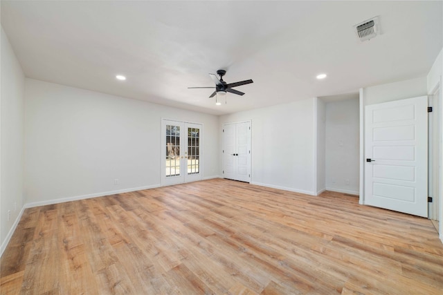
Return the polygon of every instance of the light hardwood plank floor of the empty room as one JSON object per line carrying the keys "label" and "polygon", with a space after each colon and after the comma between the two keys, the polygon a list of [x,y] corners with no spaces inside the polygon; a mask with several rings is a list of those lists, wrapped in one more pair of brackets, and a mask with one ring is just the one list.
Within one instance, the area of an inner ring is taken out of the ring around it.
{"label": "light hardwood plank floor of the empty room", "polygon": [[431,220],[206,180],[26,209],[1,294],[443,294]]}

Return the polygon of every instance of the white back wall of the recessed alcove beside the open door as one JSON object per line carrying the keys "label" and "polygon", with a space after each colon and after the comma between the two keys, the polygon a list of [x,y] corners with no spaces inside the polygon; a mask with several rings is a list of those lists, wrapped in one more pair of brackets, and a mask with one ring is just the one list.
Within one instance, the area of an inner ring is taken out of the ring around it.
{"label": "white back wall of the recessed alcove beside the open door", "polygon": [[326,189],[359,194],[359,98],[326,104]]}

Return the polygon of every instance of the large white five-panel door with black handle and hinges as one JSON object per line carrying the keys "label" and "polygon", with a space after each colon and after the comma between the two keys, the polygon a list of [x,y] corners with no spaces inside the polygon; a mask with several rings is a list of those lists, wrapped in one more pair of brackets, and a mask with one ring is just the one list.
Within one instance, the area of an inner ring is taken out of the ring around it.
{"label": "large white five-panel door with black handle and hinges", "polygon": [[365,106],[365,204],[428,216],[428,97]]}

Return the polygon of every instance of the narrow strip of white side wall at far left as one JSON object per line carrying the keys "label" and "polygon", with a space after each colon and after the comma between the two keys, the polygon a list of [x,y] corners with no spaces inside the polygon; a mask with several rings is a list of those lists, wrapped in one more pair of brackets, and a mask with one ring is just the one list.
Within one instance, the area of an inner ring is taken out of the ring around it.
{"label": "narrow strip of white side wall at far left", "polygon": [[17,225],[24,203],[24,85],[23,70],[1,28],[0,253]]}

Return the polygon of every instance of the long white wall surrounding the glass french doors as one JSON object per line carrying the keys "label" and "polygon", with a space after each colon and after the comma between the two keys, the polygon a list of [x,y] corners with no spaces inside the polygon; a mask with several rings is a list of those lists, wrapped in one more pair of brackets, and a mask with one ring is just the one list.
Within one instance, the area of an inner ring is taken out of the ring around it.
{"label": "long white wall surrounding the glass french doors", "polygon": [[25,114],[25,195],[34,205],[159,187],[161,117],[204,124],[203,176],[219,173],[215,115],[35,79],[26,79]]}

